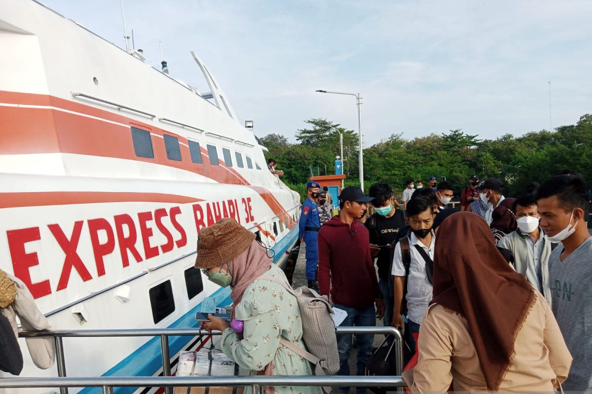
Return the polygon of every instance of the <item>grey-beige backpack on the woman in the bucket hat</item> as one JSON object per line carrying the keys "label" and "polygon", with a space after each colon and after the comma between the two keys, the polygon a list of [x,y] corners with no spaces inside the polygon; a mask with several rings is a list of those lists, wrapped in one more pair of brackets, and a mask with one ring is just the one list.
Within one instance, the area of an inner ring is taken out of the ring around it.
{"label": "grey-beige backpack on the woman in the bucket hat", "polygon": [[339,353],[337,352],[335,324],[331,318],[333,308],[331,308],[329,298],[326,295],[318,295],[316,291],[307,286],[294,290],[287,282],[274,276],[260,276],[259,279],[276,282],[296,297],[302,319],[302,339],[308,351],[300,349],[283,337],[279,342],[313,363],[314,375],[337,373],[339,371]]}

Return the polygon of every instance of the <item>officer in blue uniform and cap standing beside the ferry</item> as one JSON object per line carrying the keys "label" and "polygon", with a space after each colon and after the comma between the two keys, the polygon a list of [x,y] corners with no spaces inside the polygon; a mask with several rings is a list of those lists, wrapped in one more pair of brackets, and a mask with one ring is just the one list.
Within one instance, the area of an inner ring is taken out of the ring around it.
{"label": "officer in blue uniform and cap standing beside the ferry", "polygon": [[318,217],[317,200],[320,195],[320,185],[314,181],[306,184],[308,197],[302,204],[300,222],[298,222],[298,238],[306,243],[306,279],[308,287],[318,291],[316,278],[318,264],[318,230],[321,229],[321,222]]}

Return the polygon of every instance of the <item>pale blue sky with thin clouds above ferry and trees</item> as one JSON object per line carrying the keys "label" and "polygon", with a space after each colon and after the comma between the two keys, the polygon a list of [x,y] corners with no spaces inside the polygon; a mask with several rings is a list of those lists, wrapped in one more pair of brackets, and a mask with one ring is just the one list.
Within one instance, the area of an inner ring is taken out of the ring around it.
{"label": "pale blue sky with thin clouds above ferry and trees", "polygon": [[[45,4],[124,47],[120,0]],[[124,0],[127,34],[158,67],[206,92],[194,50],[258,136],[294,142],[310,118],[365,146],[450,129],[493,139],[592,112],[590,1]]]}

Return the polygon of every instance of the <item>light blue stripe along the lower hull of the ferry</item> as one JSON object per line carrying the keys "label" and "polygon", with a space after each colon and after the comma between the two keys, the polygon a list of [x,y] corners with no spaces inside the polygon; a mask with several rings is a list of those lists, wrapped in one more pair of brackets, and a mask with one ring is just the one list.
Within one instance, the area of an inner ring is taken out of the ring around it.
{"label": "light blue stripe along the lower hull of the ferry", "polygon": [[[298,237],[298,226],[294,226],[290,232],[279,240],[272,250],[274,250],[274,263],[281,259],[288,248]],[[216,305],[224,307],[230,305],[230,288],[220,288],[210,297],[214,297]],[[170,328],[191,328],[198,327],[199,323],[195,321],[195,313],[201,309],[201,303],[186,312],[179,320],[170,324]],[[181,351],[194,336],[171,336],[169,337],[169,354],[174,355]],[[131,353],[117,365],[105,372],[103,376],[153,376],[157,370],[162,368],[162,356],[160,354],[160,338],[152,338]],[[124,387],[115,388],[117,394],[131,394],[138,388]],[[80,391],[82,394],[100,394],[100,388],[84,388]]]}

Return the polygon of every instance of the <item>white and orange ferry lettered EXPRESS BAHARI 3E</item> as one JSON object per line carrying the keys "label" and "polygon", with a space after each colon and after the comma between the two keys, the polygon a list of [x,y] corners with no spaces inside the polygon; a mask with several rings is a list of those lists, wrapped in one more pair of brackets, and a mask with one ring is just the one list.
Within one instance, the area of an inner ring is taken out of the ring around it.
{"label": "white and orange ferry lettered EXPRESS BAHARI 3E", "polygon": [[[230,289],[193,268],[198,233],[223,217],[284,264],[300,198],[268,171],[265,146],[195,53],[210,92],[35,0],[0,0],[0,50],[0,268],[53,329],[195,327],[205,297],[230,304]],[[57,376],[20,341],[21,377]],[[63,342],[67,376],[162,373],[158,338]],[[169,346],[174,373],[179,352],[200,344]]]}

